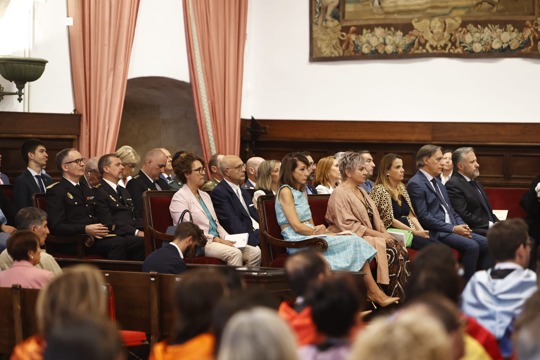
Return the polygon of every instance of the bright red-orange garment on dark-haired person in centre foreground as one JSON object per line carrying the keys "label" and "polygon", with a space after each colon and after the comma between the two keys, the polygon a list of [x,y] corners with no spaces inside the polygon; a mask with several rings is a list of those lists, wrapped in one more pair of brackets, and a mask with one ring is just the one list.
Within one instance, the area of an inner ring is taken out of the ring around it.
{"label": "bright red-orange garment on dark-haired person in centre foreground", "polygon": [[282,302],[279,305],[278,315],[293,328],[298,346],[319,344],[324,336],[317,332],[311,318],[311,307],[308,306],[300,313],[296,313],[290,304],[291,302]]}

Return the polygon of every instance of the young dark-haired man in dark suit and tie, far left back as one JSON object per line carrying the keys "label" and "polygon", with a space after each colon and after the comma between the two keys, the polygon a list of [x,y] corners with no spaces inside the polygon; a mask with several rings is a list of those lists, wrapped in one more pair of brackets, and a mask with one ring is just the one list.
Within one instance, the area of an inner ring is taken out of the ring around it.
{"label": "young dark-haired man in dark suit and tie, far left back", "polygon": [[12,199],[17,210],[32,206],[32,195],[46,192],[46,187],[54,182],[49,176],[43,176],[41,173],[49,157],[43,141],[38,139],[24,141],[21,155],[26,163],[26,170],[13,183]]}

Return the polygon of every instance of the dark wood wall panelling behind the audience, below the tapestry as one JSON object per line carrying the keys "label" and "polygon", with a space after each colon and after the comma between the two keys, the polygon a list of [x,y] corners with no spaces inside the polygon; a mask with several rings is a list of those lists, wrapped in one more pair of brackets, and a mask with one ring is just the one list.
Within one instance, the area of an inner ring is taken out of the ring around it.
{"label": "dark wood wall panelling behind the audience, below the tapestry", "polygon": [[[268,133],[249,141],[242,119],[242,153],[281,159],[289,152],[309,151],[315,161],[338,151],[369,150],[378,165],[388,153],[403,157],[404,181],[416,169],[416,152],[426,144],[455,149],[473,146],[480,164],[478,180],[486,187],[528,188],[540,173],[540,124],[439,123],[413,121],[260,120]],[[375,174],[378,167],[375,168]],[[374,180],[374,179],[373,179]]]}

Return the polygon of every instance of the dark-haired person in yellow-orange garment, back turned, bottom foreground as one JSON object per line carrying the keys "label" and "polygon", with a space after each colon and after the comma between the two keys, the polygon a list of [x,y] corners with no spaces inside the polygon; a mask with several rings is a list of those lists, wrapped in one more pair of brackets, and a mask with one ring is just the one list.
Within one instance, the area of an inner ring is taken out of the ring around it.
{"label": "dark-haired person in yellow-orange garment, back turned, bottom foreground", "polygon": [[178,283],[174,294],[172,336],[154,345],[149,360],[211,359],[212,311],[228,294],[225,278],[217,271],[193,270]]}

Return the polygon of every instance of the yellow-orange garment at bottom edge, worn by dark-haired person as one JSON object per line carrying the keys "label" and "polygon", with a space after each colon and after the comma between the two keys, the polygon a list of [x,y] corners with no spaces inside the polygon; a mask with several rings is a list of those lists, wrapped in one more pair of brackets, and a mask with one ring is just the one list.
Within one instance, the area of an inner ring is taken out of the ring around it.
{"label": "yellow-orange garment at bottom edge, worn by dark-haired person", "polygon": [[169,345],[168,340],[157,343],[152,348],[149,360],[211,360],[215,347],[215,337],[204,333],[183,344]]}

